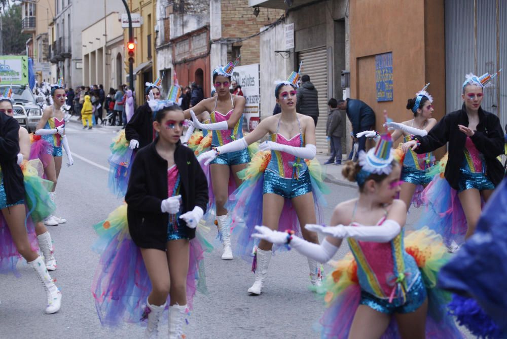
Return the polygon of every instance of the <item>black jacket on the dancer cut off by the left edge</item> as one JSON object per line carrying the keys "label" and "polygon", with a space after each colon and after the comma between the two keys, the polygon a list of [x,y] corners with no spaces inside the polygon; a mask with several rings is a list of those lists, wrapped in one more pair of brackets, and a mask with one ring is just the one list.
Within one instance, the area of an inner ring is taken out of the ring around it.
{"label": "black jacket on the dancer cut off by the left edge", "polygon": [[19,153],[18,133],[19,124],[16,119],[0,113],[0,167],[8,205],[25,197],[23,172],[16,163]]}

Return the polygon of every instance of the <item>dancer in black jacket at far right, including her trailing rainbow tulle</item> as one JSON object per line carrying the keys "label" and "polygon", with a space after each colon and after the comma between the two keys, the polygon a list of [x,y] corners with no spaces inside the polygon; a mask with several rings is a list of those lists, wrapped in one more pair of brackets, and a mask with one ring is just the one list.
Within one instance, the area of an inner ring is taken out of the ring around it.
{"label": "dancer in black jacket at far right, including her trailing rainbow tulle", "polygon": [[416,135],[402,145],[404,150],[411,148],[424,154],[448,142],[449,161],[434,166],[437,171],[444,169],[445,180],[436,176],[426,187],[423,201],[428,204],[428,212],[419,224],[442,234],[453,251],[458,247],[453,241],[461,245],[474,234],[482,200],[489,199],[503,178],[503,167],[497,159],[504,151],[500,121],[481,108],[483,89],[494,76],[468,74],[462,86],[461,109],[445,115],[428,135]]}

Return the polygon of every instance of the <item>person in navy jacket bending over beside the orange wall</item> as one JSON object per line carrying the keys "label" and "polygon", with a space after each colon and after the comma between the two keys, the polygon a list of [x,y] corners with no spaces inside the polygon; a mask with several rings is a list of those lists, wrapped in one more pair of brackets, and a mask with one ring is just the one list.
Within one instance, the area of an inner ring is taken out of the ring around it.
{"label": "person in navy jacket bending over beside the orange wall", "polygon": [[[354,136],[359,132],[371,131],[375,128],[375,112],[365,102],[358,99],[339,100],[338,108],[344,110],[352,123]],[[358,139],[357,153],[366,150],[366,136]]]}

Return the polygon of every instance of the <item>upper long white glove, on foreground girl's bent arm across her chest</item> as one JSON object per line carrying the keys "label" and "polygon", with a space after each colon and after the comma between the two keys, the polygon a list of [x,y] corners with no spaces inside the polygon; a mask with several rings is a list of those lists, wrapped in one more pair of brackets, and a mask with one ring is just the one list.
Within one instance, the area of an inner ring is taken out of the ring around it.
{"label": "upper long white glove, on foreground girl's bent arm across her chest", "polygon": [[391,241],[394,237],[399,235],[402,230],[400,224],[392,219],[387,219],[382,225],[376,226],[322,226],[307,224],[305,225],[305,229],[340,239],[350,237],[360,241],[371,241],[376,243]]}

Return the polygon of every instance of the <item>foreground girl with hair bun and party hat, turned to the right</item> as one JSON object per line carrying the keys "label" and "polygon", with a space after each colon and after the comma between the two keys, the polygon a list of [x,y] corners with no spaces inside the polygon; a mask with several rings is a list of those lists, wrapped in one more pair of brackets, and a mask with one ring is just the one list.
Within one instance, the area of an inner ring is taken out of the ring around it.
{"label": "foreground girl with hair bun and party hat, turned to the right", "polygon": [[332,226],[306,225],[326,236],[322,244],[264,226],[253,235],[320,262],[329,261],[347,238],[352,255],[338,261],[324,282],[322,338],[462,337],[447,316],[445,293],[435,288],[447,254],[441,237],[427,229],[405,237],[407,209],[395,199],[401,166],[391,145],[391,136],[383,134],[375,148],[360,152],[358,163],[344,165],[359,198],[335,207]]}

